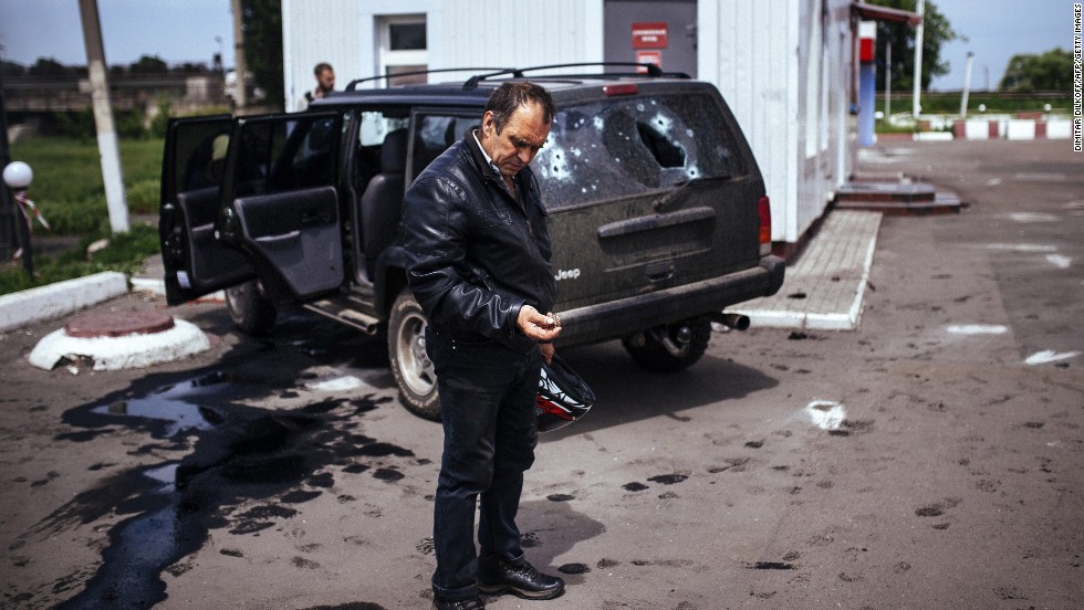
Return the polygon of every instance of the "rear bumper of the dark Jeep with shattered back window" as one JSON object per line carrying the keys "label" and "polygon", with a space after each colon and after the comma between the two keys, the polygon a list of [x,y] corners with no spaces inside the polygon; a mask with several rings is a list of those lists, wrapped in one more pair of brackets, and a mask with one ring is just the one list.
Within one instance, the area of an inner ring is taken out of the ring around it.
{"label": "rear bumper of the dark Jeep with shattered back window", "polygon": [[760,265],[684,286],[560,312],[564,329],[557,345],[623,337],[779,292],[786,264],[764,256]]}

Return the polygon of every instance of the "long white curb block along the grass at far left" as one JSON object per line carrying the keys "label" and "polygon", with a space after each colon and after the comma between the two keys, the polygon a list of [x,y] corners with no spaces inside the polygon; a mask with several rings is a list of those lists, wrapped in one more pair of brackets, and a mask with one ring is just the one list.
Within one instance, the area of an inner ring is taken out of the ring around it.
{"label": "long white curb block along the grass at far left", "polygon": [[128,292],[123,273],[105,271],[0,296],[0,333],[59,317]]}

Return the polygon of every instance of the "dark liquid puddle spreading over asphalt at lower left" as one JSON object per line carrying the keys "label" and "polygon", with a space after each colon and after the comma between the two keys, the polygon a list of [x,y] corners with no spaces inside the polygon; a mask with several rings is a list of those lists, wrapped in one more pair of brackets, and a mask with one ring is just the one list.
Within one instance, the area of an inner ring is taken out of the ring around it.
{"label": "dark liquid puddle spreading over asphalt at lower left", "polygon": [[38,524],[34,533],[55,535],[111,515],[127,516],[111,523],[97,572],[56,608],[149,608],[167,597],[161,572],[177,576],[190,569],[178,561],[199,550],[210,530],[258,536],[333,486],[338,472],[372,469],[372,476],[395,484],[406,476],[403,466],[427,463],[408,449],[357,433],[357,418],[389,397],[324,395],[289,410],[242,402],[279,391],[265,381],[211,372],[65,412],[66,423],[93,433],[58,440],[85,442],[117,428],[139,428],[152,442],[133,454],[185,454],[108,476]]}

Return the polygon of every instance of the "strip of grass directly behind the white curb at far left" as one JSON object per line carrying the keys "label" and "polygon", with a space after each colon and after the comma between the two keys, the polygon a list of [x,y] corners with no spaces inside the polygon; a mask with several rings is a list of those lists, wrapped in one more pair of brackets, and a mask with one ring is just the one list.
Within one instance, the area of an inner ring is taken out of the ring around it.
{"label": "strip of grass directly behind the white curb at far left", "polygon": [[103,271],[119,271],[132,275],[143,265],[144,259],[158,253],[158,229],[150,224],[137,223],[128,233],[110,238],[110,244],[93,255],[86,248],[101,239],[101,233],[80,239],[79,246],[54,259],[34,254],[34,276],[30,277],[22,265],[0,271],[0,294],[8,294],[37,286],[43,286],[83,277]]}

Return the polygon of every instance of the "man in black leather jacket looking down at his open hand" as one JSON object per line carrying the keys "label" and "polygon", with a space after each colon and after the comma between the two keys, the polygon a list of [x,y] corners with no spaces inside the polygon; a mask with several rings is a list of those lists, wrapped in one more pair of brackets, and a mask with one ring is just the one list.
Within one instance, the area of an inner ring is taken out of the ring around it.
{"label": "man in black leather jacket looking down at his open hand", "polygon": [[561,332],[549,313],[556,282],[545,209],[528,166],[554,113],[541,86],[501,85],[481,125],[432,161],[404,201],[407,277],[428,319],[445,432],[432,536],[440,610],[481,609],[480,592],[551,599],[564,591],[560,578],[527,561],[515,525],[538,444],[542,361]]}

